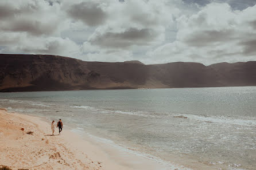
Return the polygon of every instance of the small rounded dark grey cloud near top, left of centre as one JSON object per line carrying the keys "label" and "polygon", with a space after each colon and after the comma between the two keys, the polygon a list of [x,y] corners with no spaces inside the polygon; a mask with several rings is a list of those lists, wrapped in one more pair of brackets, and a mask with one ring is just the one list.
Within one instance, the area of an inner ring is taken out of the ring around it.
{"label": "small rounded dark grey cloud near top, left of centre", "polygon": [[107,14],[100,7],[99,3],[81,2],[72,5],[67,10],[67,13],[73,19],[79,19],[88,26],[99,26],[106,22]]}

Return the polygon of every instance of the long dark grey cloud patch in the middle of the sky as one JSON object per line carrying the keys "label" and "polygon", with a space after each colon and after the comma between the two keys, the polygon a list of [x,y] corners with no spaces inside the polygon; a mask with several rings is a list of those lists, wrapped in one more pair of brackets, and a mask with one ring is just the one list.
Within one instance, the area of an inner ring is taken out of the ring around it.
{"label": "long dark grey cloud patch in the middle of the sky", "polygon": [[131,45],[148,45],[158,34],[153,29],[130,28],[121,33],[106,32],[90,40],[92,45],[127,48]]}

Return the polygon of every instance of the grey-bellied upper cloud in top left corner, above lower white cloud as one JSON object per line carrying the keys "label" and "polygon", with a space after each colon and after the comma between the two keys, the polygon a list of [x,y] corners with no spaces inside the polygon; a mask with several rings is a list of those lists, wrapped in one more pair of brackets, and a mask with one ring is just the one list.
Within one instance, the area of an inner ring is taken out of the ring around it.
{"label": "grey-bellied upper cloud in top left corner, above lower white cloud", "polygon": [[[0,31],[26,32],[31,35],[49,35],[56,31],[59,21],[52,21],[44,9],[48,3],[0,3]],[[54,22],[54,24],[53,24]]]}

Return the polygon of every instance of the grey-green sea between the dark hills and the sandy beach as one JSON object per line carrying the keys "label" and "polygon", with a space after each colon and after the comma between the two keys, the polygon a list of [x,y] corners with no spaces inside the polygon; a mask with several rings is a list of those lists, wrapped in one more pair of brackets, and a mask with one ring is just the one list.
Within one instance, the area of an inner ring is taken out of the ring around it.
{"label": "grey-green sea between the dark hills and the sandy beach", "polygon": [[167,163],[256,169],[256,87],[0,93],[0,107]]}

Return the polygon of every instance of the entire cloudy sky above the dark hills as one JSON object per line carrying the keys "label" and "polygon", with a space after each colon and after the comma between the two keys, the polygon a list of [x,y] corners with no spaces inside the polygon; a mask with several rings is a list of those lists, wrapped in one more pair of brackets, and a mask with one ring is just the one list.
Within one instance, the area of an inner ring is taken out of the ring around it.
{"label": "entire cloudy sky above the dark hills", "polygon": [[1,0],[0,53],[145,64],[256,60],[255,0]]}

